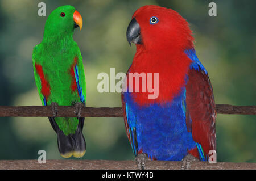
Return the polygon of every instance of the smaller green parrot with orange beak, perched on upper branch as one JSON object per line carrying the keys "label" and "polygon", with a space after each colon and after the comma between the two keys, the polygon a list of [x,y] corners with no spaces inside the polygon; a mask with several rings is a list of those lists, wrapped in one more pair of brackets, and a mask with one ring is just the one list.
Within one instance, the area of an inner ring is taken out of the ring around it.
{"label": "smaller green parrot with orange beak, perched on upper branch", "polygon": [[[58,7],[49,15],[43,40],[32,54],[39,96],[44,106],[52,107],[53,117],[49,121],[64,158],[80,158],[86,150],[81,117],[86,102],[85,74],[80,49],[73,40],[77,27],[82,28],[79,12],[72,6]],[[55,117],[57,105],[74,106],[77,117]]]}

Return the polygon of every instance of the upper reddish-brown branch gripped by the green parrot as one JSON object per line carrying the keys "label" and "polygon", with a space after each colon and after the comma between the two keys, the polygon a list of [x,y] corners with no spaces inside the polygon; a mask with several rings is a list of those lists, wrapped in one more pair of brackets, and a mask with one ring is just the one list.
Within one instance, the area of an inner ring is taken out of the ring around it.
{"label": "upper reddish-brown branch gripped by the green parrot", "polygon": [[[256,106],[217,104],[217,113],[256,115]],[[51,106],[0,106],[0,117],[52,117]],[[77,117],[73,106],[58,106],[56,117]],[[121,107],[84,107],[82,117],[123,117]]]}

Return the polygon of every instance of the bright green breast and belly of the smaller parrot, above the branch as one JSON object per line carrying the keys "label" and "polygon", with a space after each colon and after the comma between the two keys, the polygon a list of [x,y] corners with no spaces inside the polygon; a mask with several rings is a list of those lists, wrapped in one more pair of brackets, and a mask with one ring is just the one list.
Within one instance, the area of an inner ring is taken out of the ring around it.
{"label": "bright green breast and belly of the smaller parrot, above the branch", "polygon": [[40,59],[36,63],[40,64],[43,69],[46,81],[49,83],[50,92],[47,104],[56,102],[61,106],[70,106],[74,102],[80,100],[77,90],[72,90],[73,77],[71,69],[73,69],[77,53],[72,51],[72,46],[65,45],[60,49],[48,49],[43,46],[40,53]]}

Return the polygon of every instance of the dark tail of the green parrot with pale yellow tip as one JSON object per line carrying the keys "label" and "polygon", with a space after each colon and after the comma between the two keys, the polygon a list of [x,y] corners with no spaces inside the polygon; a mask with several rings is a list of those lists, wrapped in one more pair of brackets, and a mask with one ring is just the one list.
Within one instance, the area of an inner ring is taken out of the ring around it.
{"label": "dark tail of the green parrot with pale yellow tip", "polygon": [[57,133],[58,148],[61,156],[64,158],[69,158],[72,155],[76,158],[81,158],[84,156],[86,151],[86,143],[84,136],[82,135],[84,117],[79,118],[79,124],[75,134],[69,134],[68,136],[66,136],[63,131],[61,131],[53,117],[49,117],[49,121],[52,125],[52,128]]}

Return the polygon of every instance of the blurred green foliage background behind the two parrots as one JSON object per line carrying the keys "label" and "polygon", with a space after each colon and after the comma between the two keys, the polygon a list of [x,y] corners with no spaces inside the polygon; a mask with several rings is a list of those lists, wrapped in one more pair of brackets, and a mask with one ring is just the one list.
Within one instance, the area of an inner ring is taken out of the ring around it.
{"label": "blurred green foliage background behind the two parrots", "polygon": [[[213,0],[212,0],[213,1]],[[56,7],[72,5],[84,27],[76,30],[85,65],[90,107],[121,107],[118,93],[97,91],[98,73],[126,72],[135,46],[126,41],[133,12],[143,5],[160,5],[179,12],[191,24],[197,56],[207,68],[217,104],[255,105],[256,1],[213,1],[217,16],[208,15],[212,1],[47,1],[47,16]],[[0,1],[0,104],[41,105],[32,68],[32,49],[43,37],[47,16],[38,16],[41,1]],[[122,118],[86,118],[87,152],[82,159],[134,159]],[[217,159],[256,162],[256,117],[217,115]],[[0,159],[62,159],[57,137],[47,118],[0,118]]]}

